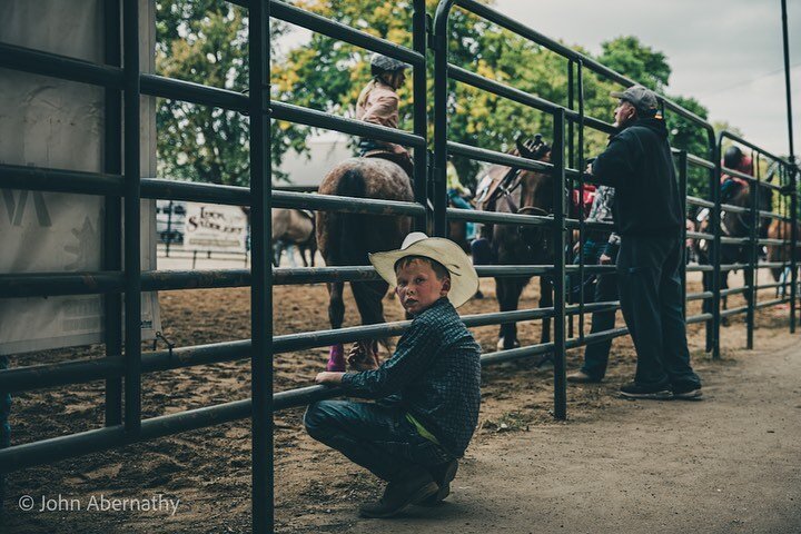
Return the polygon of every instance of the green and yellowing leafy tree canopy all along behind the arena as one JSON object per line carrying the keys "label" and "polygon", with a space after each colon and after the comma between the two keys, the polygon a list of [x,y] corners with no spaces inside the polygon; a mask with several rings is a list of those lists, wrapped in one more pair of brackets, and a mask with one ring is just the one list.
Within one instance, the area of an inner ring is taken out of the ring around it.
{"label": "green and yellowing leafy tree canopy all along behind the arena", "polygon": [[[492,3],[492,0],[484,0]],[[297,0],[296,6],[398,44],[412,46],[412,1],[369,2],[360,0]],[[427,0],[433,12],[436,0]],[[222,0],[157,1],[157,71],[188,81],[243,91],[247,88],[247,12]],[[274,21],[274,38],[286,27]],[[449,24],[449,61],[484,77],[553,102],[568,106],[568,62],[504,29],[454,9]],[[585,50],[580,50],[589,55]],[[310,39],[274,55],[273,98],[345,117],[353,117],[359,91],[370,79],[372,52],[326,36]],[[429,56],[431,58],[431,56]],[[610,68],[660,92],[669,87],[671,68],[664,53],[643,44],[636,37],[619,37],[602,44],[595,58]],[[428,62],[433,68],[433,61]],[[575,67],[574,67],[575,68]],[[611,121],[614,100],[609,96],[619,86],[601,80],[584,69],[583,93],[586,116]],[[428,102],[433,103],[433,72],[428,72]],[[505,150],[521,135],[541,132],[553,137],[553,121],[546,112],[496,97],[463,83],[452,82],[448,100],[451,140],[488,149]],[[412,130],[412,83],[402,88],[400,128]],[[706,109],[692,98],[672,97],[694,113]],[[577,108],[574,98],[573,108]],[[685,119],[668,113],[671,142],[692,154],[708,157],[705,134]],[[247,117],[184,102],[164,100],[158,111],[159,158],[164,175],[218,184],[247,184]],[[577,144],[574,128],[573,141]],[[274,122],[271,158],[277,167],[290,149],[303,152],[313,129]],[[429,136],[432,131],[429,130]],[[606,135],[586,129],[584,155],[602,150]],[[577,164],[577,146],[574,164]],[[463,181],[473,184],[477,164],[456,158]],[[289,177],[290,178],[290,177]],[[708,174],[695,170],[691,192],[705,191]]]}

